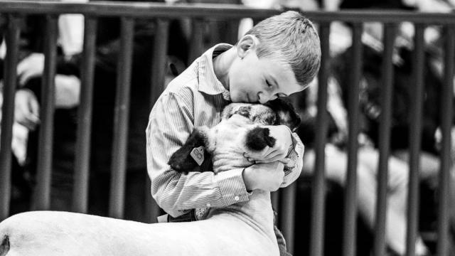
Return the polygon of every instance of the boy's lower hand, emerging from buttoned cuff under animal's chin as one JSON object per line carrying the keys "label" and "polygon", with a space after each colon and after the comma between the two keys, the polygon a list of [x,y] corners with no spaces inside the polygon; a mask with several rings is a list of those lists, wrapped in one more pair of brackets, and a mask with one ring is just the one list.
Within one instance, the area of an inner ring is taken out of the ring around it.
{"label": "boy's lower hand, emerging from buttoned cuff under animal's chin", "polygon": [[283,183],[284,164],[279,161],[267,164],[254,164],[245,168],[242,173],[247,191],[261,189],[277,191]]}

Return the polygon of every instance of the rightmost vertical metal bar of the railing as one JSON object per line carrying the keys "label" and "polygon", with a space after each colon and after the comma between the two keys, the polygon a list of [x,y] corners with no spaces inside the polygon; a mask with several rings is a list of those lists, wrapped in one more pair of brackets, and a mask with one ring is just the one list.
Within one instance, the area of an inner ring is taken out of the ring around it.
{"label": "rightmost vertical metal bar of the railing", "polygon": [[[444,85],[441,93],[441,171],[439,171],[439,210],[437,255],[449,255],[449,195],[451,157],[451,124],[453,113],[455,30],[454,26],[444,28]],[[452,184],[452,186],[454,186]],[[452,202],[453,203],[453,202]]]}

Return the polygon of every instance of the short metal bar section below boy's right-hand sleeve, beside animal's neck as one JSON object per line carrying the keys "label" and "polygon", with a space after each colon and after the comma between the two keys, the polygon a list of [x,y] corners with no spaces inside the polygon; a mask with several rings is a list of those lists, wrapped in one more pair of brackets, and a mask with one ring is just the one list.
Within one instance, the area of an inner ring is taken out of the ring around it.
{"label": "short metal bar section below boy's right-hand sleeve, beside animal's neck", "polygon": [[282,190],[280,228],[286,240],[287,251],[294,253],[294,227],[296,213],[297,183],[294,182]]}

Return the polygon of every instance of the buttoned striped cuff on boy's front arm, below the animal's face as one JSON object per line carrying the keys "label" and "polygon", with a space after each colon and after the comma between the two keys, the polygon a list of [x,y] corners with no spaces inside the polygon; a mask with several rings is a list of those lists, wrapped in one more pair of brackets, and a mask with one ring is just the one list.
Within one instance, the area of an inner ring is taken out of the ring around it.
{"label": "buttoned striped cuff on boy's front arm, below the animal's face", "polygon": [[215,179],[220,187],[221,195],[227,206],[234,203],[248,201],[247,188],[242,177],[243,169],[233,169],[223,171],[215,175]]}

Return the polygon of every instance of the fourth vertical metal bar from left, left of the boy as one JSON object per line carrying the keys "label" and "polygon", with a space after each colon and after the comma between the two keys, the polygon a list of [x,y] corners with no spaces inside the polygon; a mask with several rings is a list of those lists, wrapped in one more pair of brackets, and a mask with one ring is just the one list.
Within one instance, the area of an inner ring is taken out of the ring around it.
{"label": "fourth vertical metal bar from left, left of the boy", "polygon": [[120,54],[117,65],[117,90],[114,107],[114,134],[112,142],[112,172],[109,198],[109,216],[123,218],[127,169],[127,142],[129,122],[129,95],[131,87],[134,19],[121,18]]}

